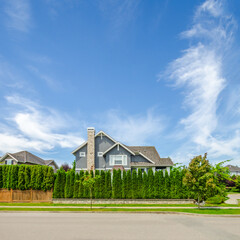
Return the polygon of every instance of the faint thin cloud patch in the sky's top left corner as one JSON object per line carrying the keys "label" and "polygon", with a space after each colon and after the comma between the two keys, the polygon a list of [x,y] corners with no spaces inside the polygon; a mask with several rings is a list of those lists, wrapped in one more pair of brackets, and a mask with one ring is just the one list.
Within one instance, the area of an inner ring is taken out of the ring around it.
{"label": "faint thin cloud patch in the sky's top left corner", "polygon": [[28,32],[31,27],[31,8],[29,0],[6,0],[6,26],[20,32]]}

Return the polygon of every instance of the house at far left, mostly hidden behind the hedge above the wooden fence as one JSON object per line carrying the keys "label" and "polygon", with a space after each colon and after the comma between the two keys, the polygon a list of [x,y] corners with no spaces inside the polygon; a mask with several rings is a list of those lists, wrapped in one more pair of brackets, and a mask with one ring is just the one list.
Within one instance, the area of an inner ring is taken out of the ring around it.
{"label": "house at far left, mostly hidden behind the hedge above the wooden fence", "polygon": [[42,158],[37,157],[36,155],[27,151],[21,151],[17,153],[6,153],[4,156],[0,158],[0,164],[47,165],[52,167],[54,169],[54,172],[56,172],[58,169],[58,165],[54,160],[43,160]]}

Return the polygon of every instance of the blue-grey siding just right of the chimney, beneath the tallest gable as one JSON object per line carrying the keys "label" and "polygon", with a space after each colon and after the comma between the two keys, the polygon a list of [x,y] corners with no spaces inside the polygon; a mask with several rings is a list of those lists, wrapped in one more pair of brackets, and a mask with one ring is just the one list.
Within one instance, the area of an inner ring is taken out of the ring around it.
{"label": "blue-grey siding just right of the chimney, beneath the tallest gable", "polygon": [[98,157],[98,152],[105,152],[115,143],[106,136],[97,136],[95,138],[95,168],[105,168],[106,162],[104,157]]}

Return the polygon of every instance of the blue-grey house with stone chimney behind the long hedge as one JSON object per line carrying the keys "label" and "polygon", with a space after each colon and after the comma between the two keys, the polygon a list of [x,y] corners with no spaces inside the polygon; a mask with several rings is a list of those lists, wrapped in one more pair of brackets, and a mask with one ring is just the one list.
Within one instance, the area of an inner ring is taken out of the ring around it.
{"label": "blue-grey house with stone chimney behind the long hedge", "polygon": [[126,146],[117,142],[105,132],[95,135],[94,128],[88,128],[88,140],[75,149],[76,172],[80,170],[142,169],[153,171],[173,166],[170,158],[161,158],[153,146]]}

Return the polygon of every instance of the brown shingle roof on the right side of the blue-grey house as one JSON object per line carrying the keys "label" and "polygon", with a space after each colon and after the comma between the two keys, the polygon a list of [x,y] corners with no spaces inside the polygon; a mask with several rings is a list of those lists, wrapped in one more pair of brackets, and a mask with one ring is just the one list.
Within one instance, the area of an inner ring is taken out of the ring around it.
{"label": "brown shingle roof on the right side of the blue-grey house", "polygon": [[151,162],[131,162],[131,166],[173,166],[171,158],[161,158],[154,146],[126,146],[136,155],[142,153],[148,159],[153,161]]}

